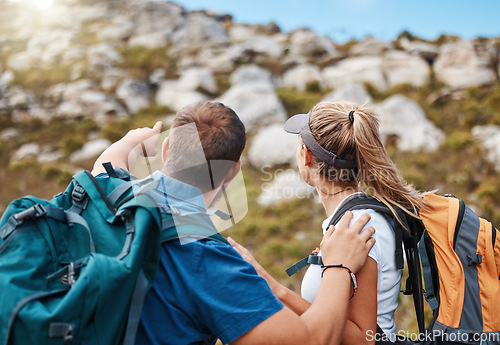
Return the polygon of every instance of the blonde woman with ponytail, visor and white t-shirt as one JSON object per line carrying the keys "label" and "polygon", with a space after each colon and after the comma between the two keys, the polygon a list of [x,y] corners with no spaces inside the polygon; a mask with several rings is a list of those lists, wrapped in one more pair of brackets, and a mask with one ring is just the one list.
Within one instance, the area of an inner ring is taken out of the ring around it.
{"label": "blonde woman with ponytail, visor and white t-shirt", "polygon": [[[300,174],[316,188],[328,216],[323,222],[323,232],[337,207],[355,193],[369,192],[392,211],[397,207],[413,217],[418,217],[418,210],[425,206],[423,194],[402,180],[388,157],[378,128],[378,119],[372,111],[347,102],[321,102],[308,114],[295,115],[286,122],[285,130],[300,136],[296,156]],[[357,274],[359,289],[350,301],[342,343],[373,344],[377,324],[386,335],[395,336],[394,311],[402,270],[396,268],[395,236],[384,216],[373,210],[353,213],[354,219],[364,213],[371,216],[367,226],[375,228],[376,243]],[[245,248],[232,240],[231,243],[256,267],[282,302],[297,314],[307,310],[319,289],[320,266],[311,265],[307,270],[301,298],[273,279]]]}

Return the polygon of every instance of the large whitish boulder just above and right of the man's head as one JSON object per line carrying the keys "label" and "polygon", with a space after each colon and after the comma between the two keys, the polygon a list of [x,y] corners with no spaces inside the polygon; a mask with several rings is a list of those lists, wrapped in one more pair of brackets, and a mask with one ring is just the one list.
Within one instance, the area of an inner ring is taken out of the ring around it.
{"label": "large whitish boulder just above and right of the man's head", "polygon": [[231,88],[219,100],[239,115],[247,131],[286,121],[285,108],[268,71],[255,65],[243,66],[231,75],[230,81]]}

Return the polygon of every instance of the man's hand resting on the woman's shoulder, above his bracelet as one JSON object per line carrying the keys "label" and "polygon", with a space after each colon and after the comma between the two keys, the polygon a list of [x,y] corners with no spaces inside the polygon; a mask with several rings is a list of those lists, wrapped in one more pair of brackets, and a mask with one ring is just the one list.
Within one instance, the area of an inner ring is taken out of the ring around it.
{"label": "man's hand resting on the woman's shoulder, above his bracelet", "polygon": [[370,220],[368,214],[362,215],[349,228],[352,217],[352,212],[346,212],[337,226],[332,225],[323,236],[320,245],[323,265],[342,264],[357,272],[365,264],[368,252],[375,244],[375,239],[371,237],[375,229],[370,227],[360,233]]}

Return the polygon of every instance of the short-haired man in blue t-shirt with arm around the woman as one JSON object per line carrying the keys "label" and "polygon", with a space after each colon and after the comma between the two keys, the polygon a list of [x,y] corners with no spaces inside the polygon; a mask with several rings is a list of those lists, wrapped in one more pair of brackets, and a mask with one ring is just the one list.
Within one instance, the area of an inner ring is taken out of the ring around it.
{"label": "short-haired man in blue t-shirt with arm around the woman", "polygon": [[[193,128],[199,135],[205,164],[199,164],[193,155],[197,144],[191,137]],[[243,124],[230,108],[205,102],[182,109],[172,130],[162,146],[163,185],[201,191],[204,204],[211,205],[240,168],[245,146]],[[157,123],[152,129],[129,132],[99,157],[93,173],[103,172],[101,164],[106,161],[131,170],[134,157],[140,153],[134,148],[150,154],[154,151],[151,143],[160,131],[161,123]],[[213,173],[217,161],[232,164]],[[163,192],[177,191],[170,188]],[[163,243],[160,268],[146,295],[136,344],[206,344],[216,338],[235,345],[339,343],[355,288],[350,272],[362,267],[374,243],[373,229],[359,234],[369,217],[348,229],[351,218],[348,213],[335,231],[325,234],[323,263],[332,267],[325,269],[313,305],[300,316],[283,306],[265,280],[229,244],[206,238]]]}

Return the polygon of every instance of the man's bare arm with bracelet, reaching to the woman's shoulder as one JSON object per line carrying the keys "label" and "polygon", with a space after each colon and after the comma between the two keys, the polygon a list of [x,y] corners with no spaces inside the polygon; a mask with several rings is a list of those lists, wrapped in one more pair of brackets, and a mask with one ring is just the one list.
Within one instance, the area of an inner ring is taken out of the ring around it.
{"label": "man's bare arm with bracelet, reaching to the woman's shoulder", "polygon": [[[347,212],[321,241],[324,265],[342,264],[357,272],[365,263],[375,239],[373,228],[359,233],[369,221],[363,215],[351,228],[352,213]],[[352,294],[349,272],[344,268],[325,270],[314,303],[302,315],[284,307],[249,332],[232,342],[234,345],[258,344],[339,344],[342,339]]]}

